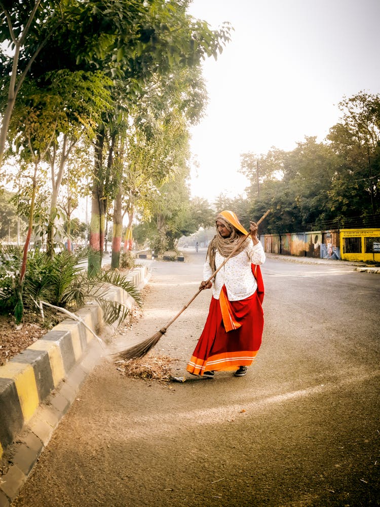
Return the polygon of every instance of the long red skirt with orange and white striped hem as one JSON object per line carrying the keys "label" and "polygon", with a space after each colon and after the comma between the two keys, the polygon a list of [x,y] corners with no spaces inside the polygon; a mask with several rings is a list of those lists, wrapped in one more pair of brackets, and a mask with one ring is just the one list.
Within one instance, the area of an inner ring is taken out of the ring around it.
{"label": "long red skirt with orange and white striped hem", "polygon": [[205,328],[186,370],[203,375],[210,370],[235,371],[239,366],[250,366],[261,345],[264,326],[261,301],[257,291],[241,301],[230,301],[234,319],[239,325],[227,332],[220,301],[212,298]]}

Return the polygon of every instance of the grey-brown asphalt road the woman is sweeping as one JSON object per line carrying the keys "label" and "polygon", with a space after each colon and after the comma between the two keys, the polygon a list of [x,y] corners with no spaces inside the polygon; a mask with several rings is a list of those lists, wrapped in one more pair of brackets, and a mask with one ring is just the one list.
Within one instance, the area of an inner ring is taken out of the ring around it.
{"label": "grey-brown asphalt road the woman is sweeping", "polygon": [[[113,350],[158,331],[197,292],[205,251],[154,261],[143,317]],[[184,383],[122,376],[104,359],[13,506],[379,505],[380,276],[268,259],[256,363],[185,373],[203,291],[154,350]]]}

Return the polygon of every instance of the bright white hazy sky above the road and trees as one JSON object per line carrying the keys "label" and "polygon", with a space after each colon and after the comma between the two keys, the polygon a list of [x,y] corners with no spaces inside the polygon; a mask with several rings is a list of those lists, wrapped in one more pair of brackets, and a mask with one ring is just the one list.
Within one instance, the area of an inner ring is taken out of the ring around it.
{"label": "bright white hazy sky above the road and trees", "polygon": [[192,130],[192,196],[241,195],[240,154],[322,141],[338,102],[380,93],[380,0],[193,0],[212,28],[230,21],[232,41],[204,63],[206,116]]}

